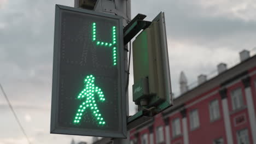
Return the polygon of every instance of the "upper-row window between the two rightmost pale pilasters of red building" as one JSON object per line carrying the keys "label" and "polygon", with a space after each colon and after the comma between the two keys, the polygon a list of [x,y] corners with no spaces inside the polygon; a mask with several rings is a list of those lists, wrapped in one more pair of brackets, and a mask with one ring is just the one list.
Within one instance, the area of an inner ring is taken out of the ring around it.
{"label": "upper-row window between the two rightmost pale pilasters of red building", "polygon": [[232,107],[233,110],[237,110],[243,106],[242,89],[237,88],[231,92]]}

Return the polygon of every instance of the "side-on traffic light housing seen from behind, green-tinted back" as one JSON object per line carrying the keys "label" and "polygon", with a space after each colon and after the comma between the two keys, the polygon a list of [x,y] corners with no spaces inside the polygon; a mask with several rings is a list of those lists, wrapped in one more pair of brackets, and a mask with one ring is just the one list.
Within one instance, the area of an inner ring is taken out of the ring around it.
{"label": "side-on traffic light housing seen from behind, green-tinted back", "polygon": [[164,13],[133,41],[133,101],[159,113],[172,105]]}

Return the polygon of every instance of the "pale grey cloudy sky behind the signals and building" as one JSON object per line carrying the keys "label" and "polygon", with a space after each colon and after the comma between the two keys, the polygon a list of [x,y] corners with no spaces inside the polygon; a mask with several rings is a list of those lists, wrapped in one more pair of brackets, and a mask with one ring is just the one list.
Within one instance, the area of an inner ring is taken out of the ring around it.
{"label": "pale grey cloudy sky behind the signals and building", "polygon": [[[176,97],[182,70],[193,83],[198,75],[216,71],[220,62],[234,65],[238,52],[256,46],[256,1],[131,3],[132,17],[141,13],[152,20],[165,12]],[[73,7],[73,0],[0,0],[0,83],[32,143],[70,143],[72,138],[89,142],[91,137],[49,134],[55,4]],[[130,114],[134,110],[130,101]],[[0,144],[27,143],[2,92],[0,113]]]}

